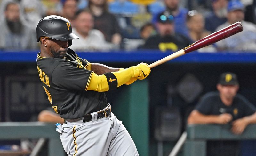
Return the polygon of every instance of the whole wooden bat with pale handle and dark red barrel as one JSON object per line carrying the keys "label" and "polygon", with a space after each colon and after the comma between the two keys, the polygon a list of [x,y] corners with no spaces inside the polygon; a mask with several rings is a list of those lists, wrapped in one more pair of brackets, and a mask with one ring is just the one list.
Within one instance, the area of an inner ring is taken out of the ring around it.
{"label": "whole wooden bat with pale handle and dark red barrel", "polygon": [[186,53],[192,52],[194,50],[198,50],[200,48],[203,48],[205,46],[209,46],[212,43],[218,42],[222,39],[225,39],[229,36],[232,36],[238,32],[243,31],[243,26],[241,22],[236,22],[232,25],[227,26],[226,28],[223,28],[217,32],[214,32],[203,39],[200,39],[196,41],[195,43],[192,43],[191,45],[179,50],[178,52],[172,53],[169,56],[164,57],[161,60],[158,60],[150,65],[148,65],[149,68],[156,67],[160,64],[163,64],[169,60],[175,59],[177,57],[180,57],[182,55],[185,55]]}

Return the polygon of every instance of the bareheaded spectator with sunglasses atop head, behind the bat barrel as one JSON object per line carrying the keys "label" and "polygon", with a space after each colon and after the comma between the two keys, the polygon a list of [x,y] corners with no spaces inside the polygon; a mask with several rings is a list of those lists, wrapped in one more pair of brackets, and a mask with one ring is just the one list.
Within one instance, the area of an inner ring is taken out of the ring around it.
{"label": "bareheaded spectator with sunglasses atop head, behind the bat barrel", "polygon": [[[187,27],[189,38],[196,42],[211,34],[211,32],[204,29],[204,17],[196,10],[188,11],[187,15]],[[215,48],[212,45],[206,46],[197,50],[199,52],[215,52]]]}

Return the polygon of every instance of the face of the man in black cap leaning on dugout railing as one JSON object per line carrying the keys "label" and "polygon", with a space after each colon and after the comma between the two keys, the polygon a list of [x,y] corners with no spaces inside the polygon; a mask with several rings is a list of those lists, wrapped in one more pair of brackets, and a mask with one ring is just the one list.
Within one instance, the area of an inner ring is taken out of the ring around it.
{"label": "face of the man in black cap leaning on dugout railing", "polygon": [[238,85],[217,85],[217,89],[220,92],[220,96],[226,99],[233,99],[236,96]]}

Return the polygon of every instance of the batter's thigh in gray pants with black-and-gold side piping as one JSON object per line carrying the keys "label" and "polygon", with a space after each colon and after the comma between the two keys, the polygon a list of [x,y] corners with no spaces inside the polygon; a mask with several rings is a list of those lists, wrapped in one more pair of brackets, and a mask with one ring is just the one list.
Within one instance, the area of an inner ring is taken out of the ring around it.
{"label": "batter's thigh in gray pants with black-and-gold side piping", "polygon": [[72,128],[68,135],[61,137],[63,146],[66,144],[67,147],[65,151],[70,156],[106,155],[111,141],[111,125],[111,120],[103,120]]}

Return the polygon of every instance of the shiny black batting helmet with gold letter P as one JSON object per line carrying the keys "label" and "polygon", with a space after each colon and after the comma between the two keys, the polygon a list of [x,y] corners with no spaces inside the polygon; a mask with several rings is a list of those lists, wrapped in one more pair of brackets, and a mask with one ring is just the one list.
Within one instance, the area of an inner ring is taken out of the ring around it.
{"label": "shiny black batting helmet with gold letter P", "polygon": [[68,19],[56,15],[46,16],[37,24],[37,42],[40,41],[40,37],[44,36],[60,41],[68,41],[68,46],[72,45],[72,39],[79,38],[72,33],[72,27]]}

